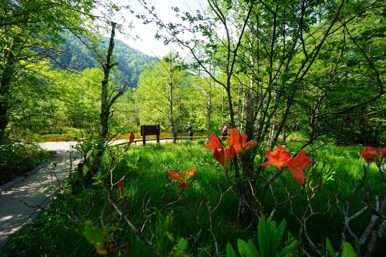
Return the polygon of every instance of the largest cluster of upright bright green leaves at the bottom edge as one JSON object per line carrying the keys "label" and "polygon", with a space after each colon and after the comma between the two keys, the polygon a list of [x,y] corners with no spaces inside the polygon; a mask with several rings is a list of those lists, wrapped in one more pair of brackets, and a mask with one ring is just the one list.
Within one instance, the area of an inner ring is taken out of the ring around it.
{"label": "largest cluster of upright bright green leaves at the bottom edge", "polygon": [[[271,221],[271,217],[268,217],[267,221],[263,215],[260,218],[257,227],[257,241],[259,250],[256,249],[253,241],[248,240],[248,243],[242,239],[237,239],[237,247],[242,257],[290,257],[296,251],[297,241],[293,241],[286,247],[284,247],[279,253],[279,245],[283,238],[285,229],[285,220],[283,220],[279,227],[276,229],[276,222]],[[228,243],[226,245],[226,256],[237,257],[232,245]]]}

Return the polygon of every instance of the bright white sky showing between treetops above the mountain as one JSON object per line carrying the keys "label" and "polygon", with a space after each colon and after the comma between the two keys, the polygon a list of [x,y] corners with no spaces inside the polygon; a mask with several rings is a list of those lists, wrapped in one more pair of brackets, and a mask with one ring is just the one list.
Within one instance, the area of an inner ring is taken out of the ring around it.
{"label": "bright white sky showing between treetops above the mountain", "polygon": [[[139,4],[138,0],[114,0],[117,4],[128,4],[131,8],[139,14],[143,14],[145,11],[143,7]],[[201,10],[206,0],[148,0],[149,4],[152,4],[156,8],[156,12],[166,21],[176,21],[174,17],[174,12],[171,10],[171,7],[179,7],[181,11],[188,11],[189,8],[195,12],[195,10]],[[155,24],[141,24],[142,21],[138,20],[133,14],[129,11],[122,13],[127,21],[133,21],[134,28],[129,30],[126,27],[125,32],[131,35],[138,35],[140,39],[134,40],[131,38],[124,37],[123,35],[117,33],[116,38],[124,41],[131,48],[137,49],[147,55],[163,57],[170,50],[178,51],[182,55],[187,52],[187,50],[182,50],[177,45],[165,46],[163,40],[155,39],[154,35],[157,31],[157,26]]]}

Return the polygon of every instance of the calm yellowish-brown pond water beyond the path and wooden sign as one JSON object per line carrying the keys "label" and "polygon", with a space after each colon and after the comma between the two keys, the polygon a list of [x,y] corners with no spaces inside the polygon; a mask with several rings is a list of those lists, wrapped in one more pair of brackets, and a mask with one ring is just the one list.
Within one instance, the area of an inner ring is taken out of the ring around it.
{"label": "calm yellowish-brown pond water beyond the path and wooden sign", "polygon": [[[60,141],[73,141],[74,139],[72,138],[74,134],[71,133],[62,133],[62,134],[47,134],[47,135],[42,135],[40,136],[41,140],[46,141],[46,142],[60,142]],[[140,133],[134,133],[135,139],[142,139]],[[78,135],[81,136],[81,135]],[[116,139],[129,139],[130,134],[118,134],[115,138]],[[188,136],[188,132],[180,132],[177,133],[177,136]],[[205,136],[204,133],[200,132],[194,132],[193,136]],[[160,138],[163,137],[172,137],[171,133],[160,133]],[[151,139],[151,138],[157,138],[156,135],[151,135],[151,136],[146,136],[146,139]]]}

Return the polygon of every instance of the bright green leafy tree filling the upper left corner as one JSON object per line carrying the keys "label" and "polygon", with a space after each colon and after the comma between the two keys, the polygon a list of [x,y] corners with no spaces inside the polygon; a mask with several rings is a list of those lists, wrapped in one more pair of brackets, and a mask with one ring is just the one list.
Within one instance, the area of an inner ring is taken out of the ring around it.
{"label": "bright green leafy tree filling the upper left corner", "polygon": [[0,140],[8,125],[10,88],[43,59],[62,54],[65,31],[84,34],[95,8],[92,0],[5,0],[0,9]]}

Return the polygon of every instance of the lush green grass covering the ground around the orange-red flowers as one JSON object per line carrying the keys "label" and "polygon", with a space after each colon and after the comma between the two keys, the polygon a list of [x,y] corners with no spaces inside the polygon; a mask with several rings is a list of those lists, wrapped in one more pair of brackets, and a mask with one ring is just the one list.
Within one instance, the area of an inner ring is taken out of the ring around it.
{"label": "lush green grass covering the ground around the orange-red flowers", "polygon": [[[287,148],[296,152],[297,146],[297,143],[289,144]],[[311,201],[313,211],[318,213],[308,220],[307,230],[312,240],[317,244],[325,243],[327,236],[331,239],[334,247],[337,247],[341,240],[343,215],[334,204],[332,196],[340,192],[338,199],[341,207],[345,207],[345,203],[352,198],[355,190],[353,184],[358,184],[364,171],[363,165],[365,163],[358,153],[358,150],[361,149],[363,148],[360,146],[337,147],[334,145],[320,149],[337,157],[338,161],[332,170],[335,172],[334,180],[322,184],[319,192]],[[305,150],[312,157],[316,156],[316,153],[311,151],[312,149]],[[136,151],[140,151],[141,159],[138,167],[132,169],[127,161],[133,162]],[[258,166],[258,163],[255,166]],[[180,173],[191,170],[193,167],[196,169],[196,175],[188,181],[187,188],[182,194],[184,201],[166,207],[167,204],[178,199],[176,192],[181,194],[179,181],[169,179],[169,182],[166,176],[167,172],[172,170]],[[276,167],[267,167],[265,174],[274,174],[277,171],[275,169]],[[305,170],[306,176],[309,176],[310,170],[311,168]],[[318,171],[316,168],[315,173]],[[236,187],[225,194],[229,188],[229,183],[225,181],[223,169],[214,160],[213,152],[204,149],[200,143],[133,146],[124,160],[114,169],[113,181],[122,179],[124,175],[125,178],[122,181],[129,201],[128,216],[135,226],[139,226],[144,219],[148,219],[142,232],[152,242],[155,242],[153,234],[155,219],[151,215],[152,207],[162,210],[164,216],[173,211],[173,236],[187,239],[188,252],[193,256],[207,256],[197,248],[205,248],[211,255],[216,255],[214,237],[209,231],[210,221],[220,256],[224,256],[227,242],[235,245],[237,238],[244,240],[255,238],[257,225],[245,228],[243,222],[236,222],[238,211]],[[381,196],[385,194],[386,186],[375,164],[370,165],[367,179],[372,197],[375,194]],[[225,182],[220,183],[221,181]],[[285,171],[274,181],[272,187],[276,199],[280,200],[286,197],[286,190],[299,189],[300,185],[294,180],[291,172]],[[119,221],[115,211],[109,207],[100,186],[85,186],[78,191],[79,193],[76,195],[71,194],[70,191],[64,193],[54,202],[52,208],[58,213],[67,213],[77,217],[81,222],[92,220],[98,227],[101,227],[102,214],[105,224],[115,224]],[[117,187],[112,190],[112,196],[114,199],[119,199]],[[331,201],[329,202],[328,199]],[[371,199],[373,200],[373,198]],[[261,200],[263,201],[263,211],[270,213],[273,204],[270,193]],[[363,200],[363,196],[358,197],[352,206],[352,213],[362,208],[361,201]],[[287,202],[284,206],[277,208],[274,220],[280,223],[283,218],[286,219],[287,236],[297,237],[299,231],[299,222],[294,215],[289,213],[289,210],[292,209],[294,214],[300,217],[306,201],[303,189],[296,198],[292,199],[291,204]],[[118,200],[117,203],[123,209],[124,202]],[[218,206],[211,216],[208,215],[208,206],[211,210]],[[193,213],[188,211],[188,208]],[[353,221],[353,228],[359,234],[368,224],[368,221],[368,214],[361,215]],[[93,247],[75,232],[76,228],[82,230],[81,227],[74,225],[63,216],[46,213],[39,218],[36,225],[22,231],[18,237],[12,238],[6,249],[10,256],[96,255]],[[130,252],[131,256],[157,256],[154,250],[147,247],[136,235],[131,233],[130,228],[125,223],[121,224],[120,229],[116,232],[115,241],[118,245],[125,244],[122,249]],[[384,241],[385,238],[383,243],[385,243]],[[306,242],[304,243],[307,248]],[[122,254],[121,251],[120,255]],[[311,253],[311,255],[313,254]]]}

